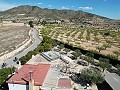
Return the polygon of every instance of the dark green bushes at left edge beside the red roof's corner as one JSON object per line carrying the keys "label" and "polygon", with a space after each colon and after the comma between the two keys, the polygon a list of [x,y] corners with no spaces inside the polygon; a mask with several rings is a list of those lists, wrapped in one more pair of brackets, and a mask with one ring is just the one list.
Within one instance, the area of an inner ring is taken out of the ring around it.
{"label": "dark green bushes at left edge beside the red roof's corner", "polygon": [[14,72],[14,68],[2,68],[0,69],[0,85],[8,78],[9,74]]}

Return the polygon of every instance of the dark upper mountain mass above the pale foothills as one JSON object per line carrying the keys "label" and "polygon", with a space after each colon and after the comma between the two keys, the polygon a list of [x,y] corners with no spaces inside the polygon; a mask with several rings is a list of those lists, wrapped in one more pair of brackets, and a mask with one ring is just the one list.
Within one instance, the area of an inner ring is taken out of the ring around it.
{"label": "dark upper mountain mass above the pale foothills", "polygon": [[55,18],[55,19],[69,19],[69,18],[81,18],[81,17],[93,18],[95,16],[99,18],[107,19],[105,17],[83,12],[80,10],[79,11],[57,10],[57,9],[39,8],[37,6],[29,6],[29,5],[18,6],[4,12],[0,12],[0,15],[5,15],[5,16],[6,15],[14,16],[18,14],[25,14],[25,16]]}

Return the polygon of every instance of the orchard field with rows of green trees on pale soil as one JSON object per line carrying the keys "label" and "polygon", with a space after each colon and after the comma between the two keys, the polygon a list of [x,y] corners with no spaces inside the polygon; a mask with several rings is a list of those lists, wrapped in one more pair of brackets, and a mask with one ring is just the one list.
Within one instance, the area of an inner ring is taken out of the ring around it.
{"label": "orchard field with rows of green trees on pale soil", "polygon": [[119,31],[46,25],[40,30],[40,33],[85,50],[114,55],[117,58],[120,54]]}

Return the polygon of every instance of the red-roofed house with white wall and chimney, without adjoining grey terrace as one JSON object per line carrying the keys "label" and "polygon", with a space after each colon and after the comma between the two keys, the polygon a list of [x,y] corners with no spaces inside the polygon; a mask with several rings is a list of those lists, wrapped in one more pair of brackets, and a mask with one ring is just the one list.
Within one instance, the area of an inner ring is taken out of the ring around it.
{"label": "red-roofed house with white wall and chimney, without adjoining grey terrace", "polygon": [[9,90],[40,90],[50,64],[23,65],[8,81]]}

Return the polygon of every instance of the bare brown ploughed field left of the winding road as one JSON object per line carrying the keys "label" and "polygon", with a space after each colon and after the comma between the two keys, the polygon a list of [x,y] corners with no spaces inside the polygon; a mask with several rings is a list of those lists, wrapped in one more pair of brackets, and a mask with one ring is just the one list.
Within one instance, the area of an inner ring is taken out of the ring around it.
{"label": "bare brown ploughed field left of the winding road", "polygon": [[23,45],[29,39],[29,27],[0,27],[0,56]]}

